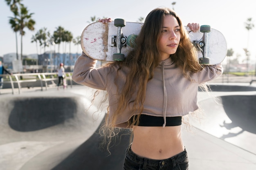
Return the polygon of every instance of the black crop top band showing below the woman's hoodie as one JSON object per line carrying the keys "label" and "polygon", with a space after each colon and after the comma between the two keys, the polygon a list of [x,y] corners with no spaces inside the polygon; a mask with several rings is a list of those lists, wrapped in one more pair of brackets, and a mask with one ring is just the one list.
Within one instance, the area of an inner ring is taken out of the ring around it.
{"label": "black crop top band showing below the woman's hoodie", "polygon": [[[133,117],[135,119],[138,115],[132,116],[130,121],[133,121]],[[166,126],[180,126],[182,123],[182,117],[166,117]],[[141,114],[139,117],[139,125],[138,126],[163,126],[164,117],[150,116]]]}

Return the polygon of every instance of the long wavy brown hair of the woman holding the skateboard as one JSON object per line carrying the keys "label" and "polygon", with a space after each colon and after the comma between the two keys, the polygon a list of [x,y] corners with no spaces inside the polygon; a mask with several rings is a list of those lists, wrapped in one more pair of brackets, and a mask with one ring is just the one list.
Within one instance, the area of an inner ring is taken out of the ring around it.
{"label": "long wavy brown hair of the woman holding the skateboard", "polygon": [[[104,130],[102,130],[105,136],[113,136],[115,132],[115,122],[119,115],[122,114],[124,108],[126,108],[131,97],[135,95],[133,101],[133,109],[136,110],[137,115],[140,115],[143,110],[143,103],[146,96],[147,82],[153,78],[154,69],[160,62],[160,52],[158,49],[158,41],[161,36],[164,17],[166,15],[173,15],[180,26],[180,44],[175,54],[170,55],[171,59],[182,68],[184,76],[189,78],[191,73],[195,73],[202,70],[202,66],[198,62],[196,50],[191,41],[189,40],[188,33],[185,27],[182,25],[180,17],[171,9],[157,8],[151,11],[141,28],[141,31],[136,39],[136,46],[133,51],[129,53],[124,62],[112,62],[108,66],[118,65],[119,70],[129,68],[129,73],[126,77],[126,83],[123,87],[118,89],[118,73],[115,78],[115,84],[119,94],[118,107],[112,117],[111,124],[108,124]],[[136,91],[135,91],[136,89]],[[108,116],[107,116],[108,119]],[[136,122],[136,123],[135,123]],[[139,122],[139,116],[133,121],[128,121],[128,126],[136,125]],[[108,122],[109,123],[109,122]]]}

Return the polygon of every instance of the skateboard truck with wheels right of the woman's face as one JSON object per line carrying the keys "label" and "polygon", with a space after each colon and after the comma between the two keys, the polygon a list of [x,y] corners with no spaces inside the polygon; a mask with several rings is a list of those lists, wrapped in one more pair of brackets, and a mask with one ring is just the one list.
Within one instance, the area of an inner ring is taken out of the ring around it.
{"label": "skateboard truck with wheels right of the woman's face", "polygon": [[204,33],[202,37],[202,41],[198,43],[200,49],[202,49],[202,55],[203,57],[199,58],[200,64],[210,64],[210,58],[207,57],[208,51],[207,51],[207,38],[208,33],[211,32],[211,26],[209,25],[202,25],[200,26],[200,32]]}

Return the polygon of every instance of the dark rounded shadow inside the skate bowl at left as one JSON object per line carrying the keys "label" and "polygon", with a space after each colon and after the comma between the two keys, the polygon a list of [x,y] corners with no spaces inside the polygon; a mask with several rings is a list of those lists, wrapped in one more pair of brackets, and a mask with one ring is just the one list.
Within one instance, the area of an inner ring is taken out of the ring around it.
{"label": "dark rounded shadow inside the skate bowl at left", "polygon": [[78,108],[70,97],[19,98],[13,102],[9,126],[20,132],[63,124],[67,119],[74,118]]}

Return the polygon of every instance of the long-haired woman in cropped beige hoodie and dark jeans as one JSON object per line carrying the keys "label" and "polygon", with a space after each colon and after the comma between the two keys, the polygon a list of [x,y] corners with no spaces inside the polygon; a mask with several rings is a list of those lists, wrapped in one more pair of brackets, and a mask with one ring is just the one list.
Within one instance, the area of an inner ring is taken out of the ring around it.
{"label": "long-haired woman in cropped beige hoodie and dark jeans", "polygon": [[[188,26],[199,29],[196,23]],[[222,66],[199,64],[180,17],[168,8],[148,14],[136,44],[124,62],[100,68],[82,53],[72,78],[108,92],[106,128],[132,129],[124,170],[188,170],[182,116],[199,108],[198,86],[221,75]]]}

